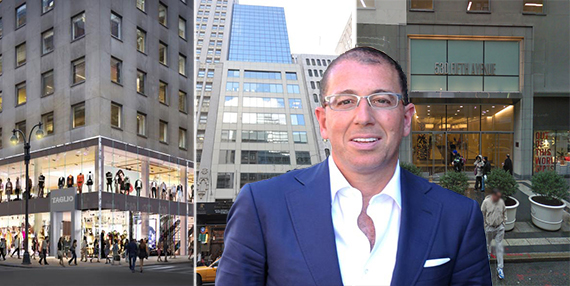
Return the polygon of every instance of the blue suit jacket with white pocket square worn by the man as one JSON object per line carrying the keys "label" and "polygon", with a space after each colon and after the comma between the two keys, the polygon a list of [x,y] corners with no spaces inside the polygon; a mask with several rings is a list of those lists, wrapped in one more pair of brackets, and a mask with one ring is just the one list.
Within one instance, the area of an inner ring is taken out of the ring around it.
{"label": "blue suit jacket with white pocket square worn by the man", "polygon": [[[401,170],[391,285],[491,285],[477,202]],[[243,187],[230,213],[216,286],[342,285],[326,161]],[[424,268],[427,259],[450,258]]]}

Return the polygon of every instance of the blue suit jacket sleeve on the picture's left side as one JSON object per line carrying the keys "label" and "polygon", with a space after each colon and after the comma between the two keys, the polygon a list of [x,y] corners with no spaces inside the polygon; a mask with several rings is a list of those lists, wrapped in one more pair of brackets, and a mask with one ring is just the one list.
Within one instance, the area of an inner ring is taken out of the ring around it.
{"label": "blue suit jacket sleeve on the picture's left side", "polygon": [[265,242],[249,184],[243,187],[228,214],[224,243],[216,286],[265,285]]}

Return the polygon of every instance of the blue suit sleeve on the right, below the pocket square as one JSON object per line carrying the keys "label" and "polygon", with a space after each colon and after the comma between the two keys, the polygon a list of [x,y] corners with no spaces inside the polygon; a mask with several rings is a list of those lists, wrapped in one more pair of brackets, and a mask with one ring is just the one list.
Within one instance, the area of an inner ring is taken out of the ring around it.
{"label": "blue suit sleeve on the right, below the pocket square", "polygon": [[450,285],[492,285],[483,216],[476,201],[472,201]]}

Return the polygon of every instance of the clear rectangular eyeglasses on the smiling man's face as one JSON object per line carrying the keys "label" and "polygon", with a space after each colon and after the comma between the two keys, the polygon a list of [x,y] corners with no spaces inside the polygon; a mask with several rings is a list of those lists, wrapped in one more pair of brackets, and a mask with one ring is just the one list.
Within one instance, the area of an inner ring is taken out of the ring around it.
{"label": "clear rectangular eyeglasses on the smiling man's face", "polygon": [[379,92],[368,96],[333,94],[325,97],[325,104],[328,104],[332,110],[350,111],[355,109],[363,98],[374,109],[394,109],[398,106],[398,102],[402,100],[402,95],[393,92]]}

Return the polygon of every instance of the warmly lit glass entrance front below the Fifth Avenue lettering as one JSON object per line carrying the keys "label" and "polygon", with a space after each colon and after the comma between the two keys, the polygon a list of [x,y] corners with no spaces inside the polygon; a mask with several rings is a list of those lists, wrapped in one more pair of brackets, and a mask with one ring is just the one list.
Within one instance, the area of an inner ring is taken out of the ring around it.
{"label": "warmly lit glass entrance front below the Fifth Avenue lettering", "polygon": [[466,159],[463,171],[473,172],[477,155],[500,167],[512,154],[512,105],[418,104],[412,120],[412,162],[429,176],[453,170],[453,151]]}

